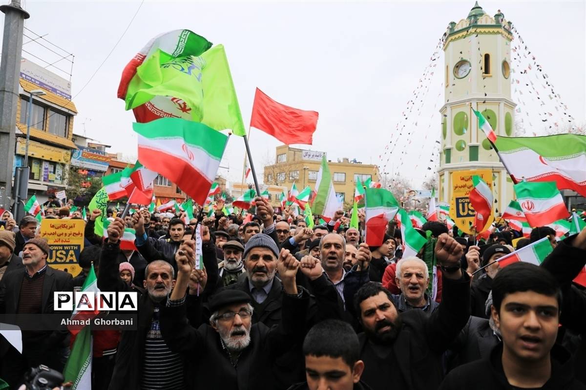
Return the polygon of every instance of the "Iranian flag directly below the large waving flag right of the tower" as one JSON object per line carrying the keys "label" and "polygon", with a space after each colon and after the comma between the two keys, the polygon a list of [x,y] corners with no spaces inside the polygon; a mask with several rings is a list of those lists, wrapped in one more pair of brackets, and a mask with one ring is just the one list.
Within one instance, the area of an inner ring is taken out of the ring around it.
{"label": "Iranian flag directly below the large waving flag right of the tower", "polygon": [[545,226],[570,216],[556,182],[521,182],[514,188],[517,201],[532,227]]}

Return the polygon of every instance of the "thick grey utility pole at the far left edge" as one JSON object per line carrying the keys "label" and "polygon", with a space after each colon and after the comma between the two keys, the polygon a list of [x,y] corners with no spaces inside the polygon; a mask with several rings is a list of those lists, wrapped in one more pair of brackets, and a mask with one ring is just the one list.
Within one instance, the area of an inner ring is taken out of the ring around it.
{"label": "thick grey utility pole at the far left edge", "polygon": [[29,13],[21,0],[0,6],[4,39],[0,61],[0,207],[9,209],[12,198],[12,167],[16,148],[16,103],[21,76],[22,33]]}

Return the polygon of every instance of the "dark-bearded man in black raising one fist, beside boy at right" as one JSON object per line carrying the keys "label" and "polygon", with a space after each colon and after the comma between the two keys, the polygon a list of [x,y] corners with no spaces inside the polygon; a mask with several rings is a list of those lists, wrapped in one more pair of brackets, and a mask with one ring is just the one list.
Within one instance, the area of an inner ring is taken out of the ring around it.
{"label": "dark-bearded man in black raising one fist, beside boy at right", "polygon": [[442,234],[435,255],[444,278],[444,299],[434,313],[398,313],[392,294],[380,283],[358,290],[355,309],[364,333],[359,334],[362,380],[377,389],[437,389],[444,377],[442,354],[470,316],[470,277],[459,261],[461,245]]}

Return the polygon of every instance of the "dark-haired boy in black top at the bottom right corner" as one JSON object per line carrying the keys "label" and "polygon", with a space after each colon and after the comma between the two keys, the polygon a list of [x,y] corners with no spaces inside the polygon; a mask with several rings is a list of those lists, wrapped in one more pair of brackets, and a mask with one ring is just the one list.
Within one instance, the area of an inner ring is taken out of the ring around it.
{"label": "dark-haired boy in black top at the bottom right corner", "polygon": [[574,377],[570,354],[556,342],[561,292],[539,266],[519,262],[492,284],[492,318],[502,343],[486,360],[451,371],[440,389],[586,389]]}

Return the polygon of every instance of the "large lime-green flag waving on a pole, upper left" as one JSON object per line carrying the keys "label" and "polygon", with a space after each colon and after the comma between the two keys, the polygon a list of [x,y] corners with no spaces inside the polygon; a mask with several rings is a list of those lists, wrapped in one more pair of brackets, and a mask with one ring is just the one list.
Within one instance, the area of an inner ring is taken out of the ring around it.
{"label": "large lime-green flag waving on a pole, upper left", "polygon": [[231,129],[244,136],[244,122],[224,46],[216,45],[198,57],[172,57],[162,50],[137,68],[128,84],[126,110],[155,96],[183,100],[191,118],[215,130]]}

